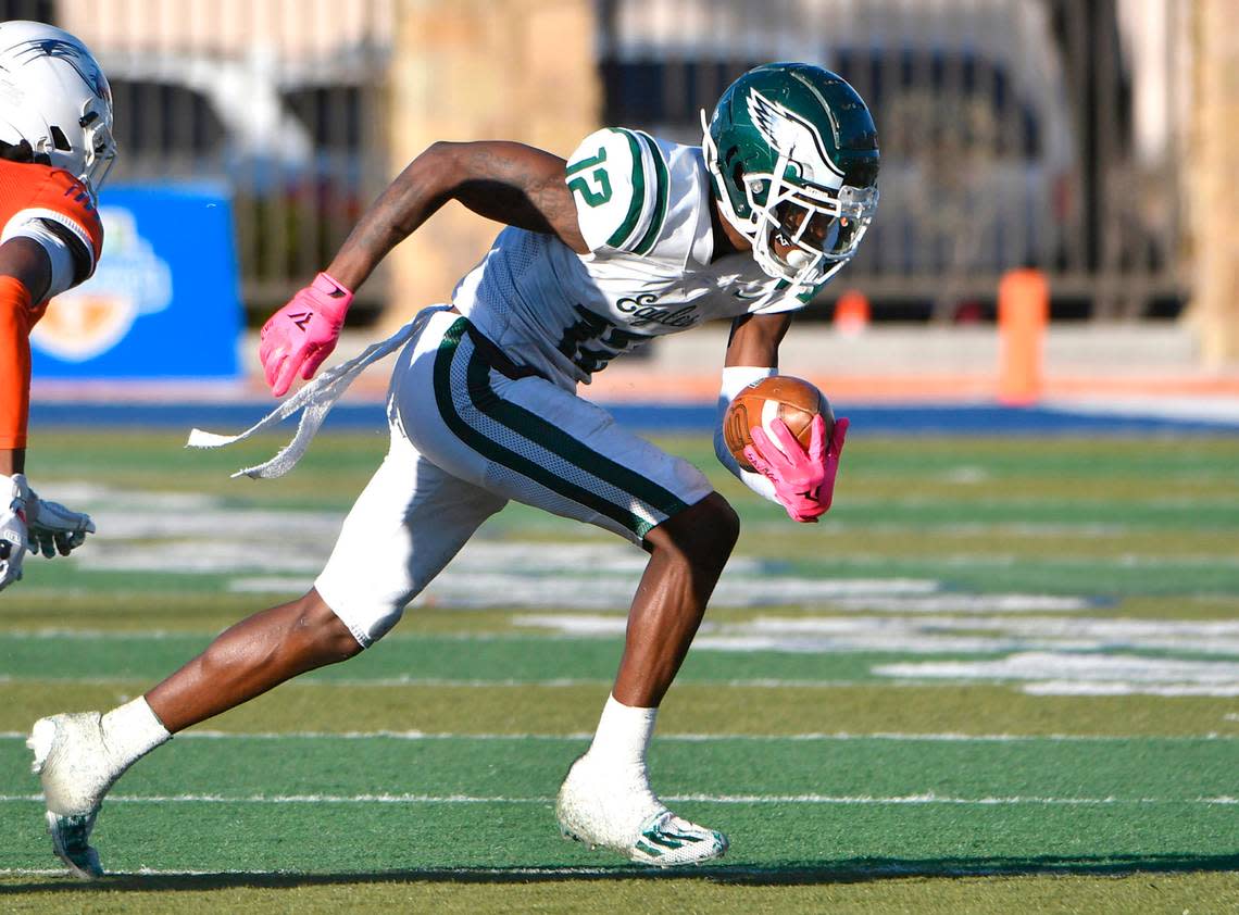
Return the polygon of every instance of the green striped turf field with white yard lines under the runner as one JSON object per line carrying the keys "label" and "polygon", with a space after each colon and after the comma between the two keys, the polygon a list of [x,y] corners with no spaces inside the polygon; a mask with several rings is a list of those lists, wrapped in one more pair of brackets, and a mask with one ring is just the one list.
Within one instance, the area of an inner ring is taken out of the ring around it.
{"label": "green striped turf field with white yard lines under the runner", "polygon": [[[857,430],[829,520],[714,474],[745,530],[650,755],[727,832],[654,873],[560,839],[643,553],[510,506],[358,659],[191,729],[104,805],[114,872],[63,877],[25,733],[139,695],[304,591],[382,456],[321,437],[40,436],[89,509],[0,596],[0,911],[1239,910],[1239,437]],[[88,448],[88,453],[79,449]]]}

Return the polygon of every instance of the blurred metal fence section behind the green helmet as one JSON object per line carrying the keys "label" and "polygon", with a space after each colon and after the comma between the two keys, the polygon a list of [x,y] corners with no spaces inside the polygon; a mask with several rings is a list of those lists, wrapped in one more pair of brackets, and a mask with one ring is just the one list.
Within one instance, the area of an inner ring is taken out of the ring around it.
{"label": "blurred metal fence section behind the green helmet", "polygon": [[836,281],[878,316],[984,316],[1016,266],[1049,274],[1059,317],[1176,313],[1186,6],[606,0],[603,119],[698,142],[745,69],[820,63],[878,128],[878,215]]}

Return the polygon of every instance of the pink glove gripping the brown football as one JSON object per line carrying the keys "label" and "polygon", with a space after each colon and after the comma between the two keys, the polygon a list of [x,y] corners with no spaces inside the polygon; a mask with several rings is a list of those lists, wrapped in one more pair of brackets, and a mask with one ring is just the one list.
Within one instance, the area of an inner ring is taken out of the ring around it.
{"label": "pink glove gripping the brown football", "polygon": [[826,421],[814,416],[808,452],[783,420],[774,420],[771,428],[778,444],[769,440],[766,430],[753,426],[750,430],[753,443],[745,448],[745,457],[774,484],[774,495],[793,521],[817,521],[830,508],[835,493],[835,474],[839,473],[839,456],[847,437],[847,420],[835,422],[826,447]]}

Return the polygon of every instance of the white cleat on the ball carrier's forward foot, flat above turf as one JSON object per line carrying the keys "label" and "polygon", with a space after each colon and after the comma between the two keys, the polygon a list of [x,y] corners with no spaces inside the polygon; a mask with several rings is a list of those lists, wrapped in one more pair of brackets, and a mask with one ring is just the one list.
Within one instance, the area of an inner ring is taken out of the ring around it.
{"label": "white cleat on the ball carrier's forward foot, flat above turf", "polygon": [[675,816],[649,790],[644,766],[617,769],[587,757],[567,770],[555,802],[559,830],[638,864],[674,867],[721,858],[727,837]]}

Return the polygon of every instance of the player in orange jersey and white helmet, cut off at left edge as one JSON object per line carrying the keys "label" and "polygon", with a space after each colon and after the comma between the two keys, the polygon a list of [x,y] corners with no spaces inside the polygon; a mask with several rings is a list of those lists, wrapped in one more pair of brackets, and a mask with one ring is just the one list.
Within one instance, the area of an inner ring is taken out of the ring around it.
{"label": "player in orange jersey and white helmet, cut off at left edge", "polygon": [[94,532],[26,482],[30,331],[94,272],[95,191],[115,152],[112,90],[85,46],[41,22],[0,24],[0,589],[27,549],[67,556]]}

